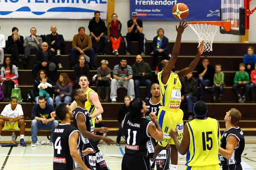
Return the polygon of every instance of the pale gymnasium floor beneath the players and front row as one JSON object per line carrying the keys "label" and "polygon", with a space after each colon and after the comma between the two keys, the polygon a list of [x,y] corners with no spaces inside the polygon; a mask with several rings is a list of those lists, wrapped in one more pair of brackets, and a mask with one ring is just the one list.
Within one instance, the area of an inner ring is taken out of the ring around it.
{"label": "pale gymnasium floor beneath the players and front row", "polygon": [[[11,136],[1,136],[1,141],[9,141]],[[116,140],[115,136],[111,139]],[[20,136],[17,137],[17,141]],[[47,140],[44,136],[38,136],[38,140]],[[122,139],[123,140],[123,139]],[[256,141],[256,136],[246,136],[245,140]],[[31,141],[31,136],[25,136],[25,141]],[[121,170],[122,155],[125,150],[125,144],[121,147],[113,144],[111,146],[102,145],[99,149],[111,170]],[[53,146],[37,145],[30,147],[0,147],[0,167],[1,170],[52,170]],[[246,144],[242,158],[242,167],[244,170],[256,170],[256,143]],[[185,156],[179,155],[178,170],[185,169]]]}

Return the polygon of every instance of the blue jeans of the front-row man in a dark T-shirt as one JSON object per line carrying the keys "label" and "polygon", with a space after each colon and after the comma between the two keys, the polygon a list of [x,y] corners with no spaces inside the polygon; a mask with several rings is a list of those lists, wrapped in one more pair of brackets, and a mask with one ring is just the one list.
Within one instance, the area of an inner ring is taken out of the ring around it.
{"label": "blue jeans of the front-row man in a dark T-shirt", "polygon": [[[47,124],[43,124],[42,121],[39,121],[36,119],[32,120],[32,122],[31,122],[32,142],[37,142],[38,130],[52,130],[52,134],[53,134],[53,132],[57,126],[58,126],[58,120],[48,122]],[[52,135],[50,137],[50,141],[52,142]]]}

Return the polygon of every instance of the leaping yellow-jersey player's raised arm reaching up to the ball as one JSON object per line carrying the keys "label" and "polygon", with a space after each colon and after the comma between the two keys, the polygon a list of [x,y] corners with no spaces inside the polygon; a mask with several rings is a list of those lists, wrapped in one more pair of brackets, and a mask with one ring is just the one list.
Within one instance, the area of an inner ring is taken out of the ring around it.
{"label": "leaping yellow-jersey player's raised arm reaching up to the ball", "polygon": [[162,72],[161,80],[162,80],[163,84],[167,83],[167,81],[169,79],[169,75],[171,74],[172,68],[174,67],[177,57],[179,56],[181,35],[182,35],[184,29],[188,26],[187,23],[185,23],[185,21],[186,20],[184,20],[183,23],[181,23],[181,21],[180,21],[179,27],[176,26],[177,37],[176,37],[176,41],[175,41],[175,44],[172,49],[172,56]]}

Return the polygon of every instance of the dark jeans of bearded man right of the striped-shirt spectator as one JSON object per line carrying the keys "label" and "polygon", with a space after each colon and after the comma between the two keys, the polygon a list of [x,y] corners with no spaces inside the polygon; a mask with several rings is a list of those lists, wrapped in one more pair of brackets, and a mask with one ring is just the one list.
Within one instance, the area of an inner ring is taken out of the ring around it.
{"label": "dark jeans of bearded man right of the striped-shirt spectator", "polygon": [[150,98],[152,95],[150,93],[152,82],[150,79],[135,79],[134,80],[134,89],[136,98],[140,98],[140,85],[146,86],[146,97]]}

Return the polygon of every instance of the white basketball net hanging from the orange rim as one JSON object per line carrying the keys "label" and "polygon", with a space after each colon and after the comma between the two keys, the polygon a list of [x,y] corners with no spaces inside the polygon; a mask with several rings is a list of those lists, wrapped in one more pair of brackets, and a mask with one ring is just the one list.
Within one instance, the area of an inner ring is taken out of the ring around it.
{"label": "white basketball net hanging from the orange rim", "polygon": [[204,51],[212,51],[212,42],[219,26],[211,24],[189,24],[195,34],[198,35],[198,42],[201,45],[202,40],[204,40]]}

